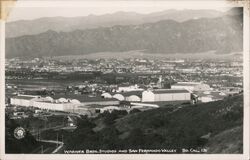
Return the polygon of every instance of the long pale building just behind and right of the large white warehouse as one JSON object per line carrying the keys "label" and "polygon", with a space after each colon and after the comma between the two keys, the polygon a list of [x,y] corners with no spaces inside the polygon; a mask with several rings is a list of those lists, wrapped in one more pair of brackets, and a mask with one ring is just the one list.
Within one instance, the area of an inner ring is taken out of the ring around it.
{"label": "long pale building just behind and right of the large white warehouse", "polygon": [[201,82],[178,82],[171,85],[171,89],[186,89],[191,92],[211,90],[208,84],[204,84]]}

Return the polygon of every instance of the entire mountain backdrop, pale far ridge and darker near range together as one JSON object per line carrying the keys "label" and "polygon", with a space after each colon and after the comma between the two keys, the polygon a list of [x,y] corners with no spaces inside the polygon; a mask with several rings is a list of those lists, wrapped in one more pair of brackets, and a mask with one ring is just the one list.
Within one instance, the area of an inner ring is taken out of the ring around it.
{"label": "entire mountain backdrop, pale far ridge and darker near range together", "polygon": [[241,17],[242,12],[234,9],[226,13],[167,10],[147,15],[116,12],[102,16],[10,22],[6,27],[7,37],[11,37],[6,39],[6,57],[89,55],[132,50],[151,54],[241,52]]}

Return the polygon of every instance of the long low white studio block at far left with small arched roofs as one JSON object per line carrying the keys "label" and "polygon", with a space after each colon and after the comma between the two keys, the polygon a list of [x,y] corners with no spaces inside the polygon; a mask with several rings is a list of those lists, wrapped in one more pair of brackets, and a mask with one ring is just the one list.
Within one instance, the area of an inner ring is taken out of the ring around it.
{"label": "long low white studio block at far left with small arched roofs", "polygon": [[79,107],[86,108],[91,105],[108,106],[120,104],[120,102],[115,98],[105,99],[99,96],[88,97],[84,95],[56,95],[52,97],[22,95],[10,98],[10,104],[73,113],[77,113],[75,112],[77,109],[81,109],[81,112],[84,110]]}

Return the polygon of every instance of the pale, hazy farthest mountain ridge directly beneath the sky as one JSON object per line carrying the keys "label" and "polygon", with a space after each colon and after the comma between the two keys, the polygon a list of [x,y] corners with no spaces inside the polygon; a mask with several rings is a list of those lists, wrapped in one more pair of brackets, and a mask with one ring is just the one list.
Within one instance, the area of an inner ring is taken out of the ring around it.
{"label": "pale, hazy farthest mountain ridge directly beneath the sky", "polygon": [[138,25],[161,20],[187,21],[193,18],[215,18],[224,13],[216,10],[166,10],[150,14],[115,12],[85,17],[46,17],[35,20],[20,20],[6,24],[6,36],[18,37],[46,32],[48,30],[70,32],[77,29],[111,27],[114,25]]}

